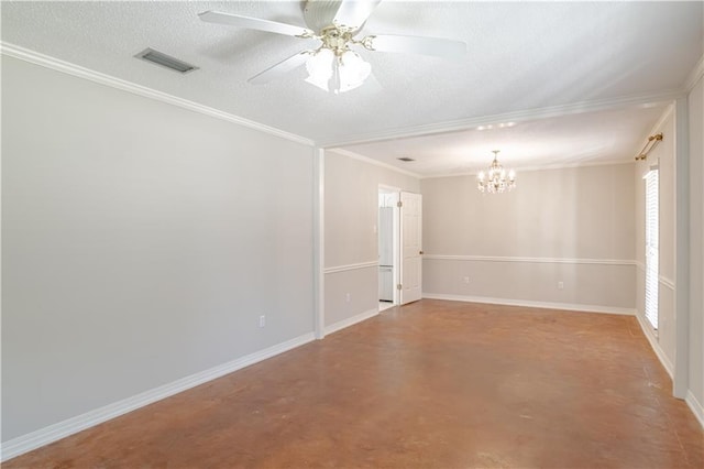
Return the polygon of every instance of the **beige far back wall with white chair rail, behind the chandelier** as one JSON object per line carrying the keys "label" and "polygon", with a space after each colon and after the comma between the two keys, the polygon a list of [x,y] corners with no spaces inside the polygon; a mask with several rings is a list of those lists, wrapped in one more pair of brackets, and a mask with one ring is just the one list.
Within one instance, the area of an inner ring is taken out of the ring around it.
{"label": "beige far back wall with white chair rail, behind the chandelier", "polygon": [[501,195],[473,176],[422,179],[424,294],[632,310],[632,172],[522,172]]}

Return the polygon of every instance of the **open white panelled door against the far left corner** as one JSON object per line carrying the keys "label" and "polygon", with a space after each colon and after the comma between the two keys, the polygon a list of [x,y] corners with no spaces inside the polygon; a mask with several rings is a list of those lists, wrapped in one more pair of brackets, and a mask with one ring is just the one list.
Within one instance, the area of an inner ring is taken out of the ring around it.
{"label": "open white panelled door against the far left corner", "polygon": [[400,304],[417,302],[422,281],[422,199],[420,194],[400,193]]}

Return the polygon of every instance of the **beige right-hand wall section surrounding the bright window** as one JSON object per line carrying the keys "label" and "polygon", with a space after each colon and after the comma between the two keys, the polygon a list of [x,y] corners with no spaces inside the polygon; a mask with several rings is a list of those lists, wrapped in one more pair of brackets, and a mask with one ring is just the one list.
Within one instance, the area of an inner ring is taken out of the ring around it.
{"label": "beige right-hand wall section surrounding the bright window", "polygon": [[659,170],[660,185],[660,282],[658,290],[658,332],[653,334],[646,327],[646,334],[659,347],[661,358],[670,373],[676,348],[675,310],[674,310],[674,272],[675,272],[675,119],[673,108],[669,108],[661,119],[661,123],[652,133],[662,132],[663,140],[648,154],[646,161],[636,163],[635,171],[635,212],[636,212],[636,261],[638,274],[636,280],[636,309],[646,326],[645,319],[645,197],[646,182],[644,177],[651,166]]}

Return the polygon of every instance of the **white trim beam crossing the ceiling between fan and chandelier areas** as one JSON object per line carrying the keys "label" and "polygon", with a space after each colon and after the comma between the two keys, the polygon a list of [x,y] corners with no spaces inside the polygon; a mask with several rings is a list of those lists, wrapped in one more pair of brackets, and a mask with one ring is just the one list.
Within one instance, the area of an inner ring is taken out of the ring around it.
{"label": "white trim beam crossing the ceiling between fan and chandelier areas", "polygon": [[400,129],[385,130],[381,132],[369,132],[356,135],[343,137],[344,140],[320,141],[318,144],[324,148],[349,146],[360,143],[371,143],[384,140],[402,139],[407,137],[430,135],[443,132],[457,132],[476,128],[479,126],[499,124],[502,122],[521,122],[539,119],[563,117],[568,114],[580,114],[584,112],[596,112],[615,109],[626,106],[637,106],[651,102],[672,101],[682,95],[682,90],[667,90],[658,94],[648,94],[616,99],[604,99],[597,101],[573,102],[570,105],[551,106],[547,108],[527,109],[521,111],[506,112],[494,116],[480,116],[466,119],[459,119],[448,122],[438,122]]}

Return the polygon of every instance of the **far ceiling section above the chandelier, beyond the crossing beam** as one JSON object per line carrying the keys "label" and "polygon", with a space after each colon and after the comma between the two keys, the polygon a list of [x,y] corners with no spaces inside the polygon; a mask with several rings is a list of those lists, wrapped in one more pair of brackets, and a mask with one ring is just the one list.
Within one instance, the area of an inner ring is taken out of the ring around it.
{"label": "far ceiling section above the chandelier, beyond the crossing beam", "polygon": [[[501,151],[502,164],[519,170],[632,162],[666,110],[667,105],[661,102],[501,122],[348,145],[342,153],[377,160],[424,177],[475,174],[486,170],[494,157],[493,150]],[[402,162],[399,157],[415,161]]]}

